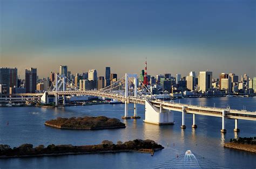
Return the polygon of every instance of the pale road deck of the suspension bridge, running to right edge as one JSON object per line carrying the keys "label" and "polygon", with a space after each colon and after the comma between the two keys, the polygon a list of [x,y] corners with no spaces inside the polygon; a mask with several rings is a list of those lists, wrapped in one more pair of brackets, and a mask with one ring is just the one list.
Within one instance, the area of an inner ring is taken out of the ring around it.
{"label": "pale road deck of the suspension bridge, running to right edge", "polygon": [[[50,91],[49,95],[55,95],[55,91]],[[125,98],[123,95],[113,94],[113,93],[104,93],[100,91],[57,91],[58,95],[90,95],[90,96],[99,96],[99,97],[107,97],[113,98],[115,100],[119,100],[127,103],[137,103],[137,104],[145,104],[145,98],[143,96],[128,96]],[[215,117],[223,117],[223,110],[225,110],[225,117],[232,119],[246,119],[256,121],[256,112],[246,111],[246,110],[235,110],[235,109],[223,109],[223,108],[213,108],[213,107],[204,107],[199,105],[190,105],[190,104],[180,104],[180,103],[171,103],[161,100],[150,101],[155,107],[161,107],[163,109],[173,110],[173,111],[183,111],[183,107],[185,112],[188,114],[198,114],[198,115],[206,115],[206,116],[215,116]]]}

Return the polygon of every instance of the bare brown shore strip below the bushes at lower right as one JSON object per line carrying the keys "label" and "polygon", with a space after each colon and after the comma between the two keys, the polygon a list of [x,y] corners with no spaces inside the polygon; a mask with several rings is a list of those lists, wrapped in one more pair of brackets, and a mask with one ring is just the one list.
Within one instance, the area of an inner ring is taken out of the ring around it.
{"label": "bare brown shore strip below the bushes at lower right", "polygon": [[225,143],[224,148],[256,153],[256,145],[243,143]]}

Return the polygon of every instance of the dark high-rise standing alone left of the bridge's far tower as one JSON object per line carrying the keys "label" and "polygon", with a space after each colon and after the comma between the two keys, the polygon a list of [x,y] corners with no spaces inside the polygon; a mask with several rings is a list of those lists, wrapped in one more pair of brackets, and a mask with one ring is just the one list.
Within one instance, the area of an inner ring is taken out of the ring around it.
{"label": "dark high-rise standing alone left of the bridge's far tower", "polygon": [[26,93],[35,93],[37,85],[37,69],[26,68],[25,69],[25,88]]}

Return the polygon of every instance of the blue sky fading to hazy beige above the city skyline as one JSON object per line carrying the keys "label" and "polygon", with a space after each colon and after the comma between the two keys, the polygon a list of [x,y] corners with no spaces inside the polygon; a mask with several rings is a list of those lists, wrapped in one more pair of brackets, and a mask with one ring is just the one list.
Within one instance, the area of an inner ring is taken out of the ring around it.
{"label": "blue sky fading to hazy beige above the city skyline", "polygon": [[0,0],[0,67],[256,76],[256,1]]}

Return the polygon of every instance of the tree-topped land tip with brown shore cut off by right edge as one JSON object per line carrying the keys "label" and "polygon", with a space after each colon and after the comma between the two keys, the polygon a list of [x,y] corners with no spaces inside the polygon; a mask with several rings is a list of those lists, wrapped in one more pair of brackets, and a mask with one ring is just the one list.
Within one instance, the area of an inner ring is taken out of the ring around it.
{"label": "tree-topped land tip with brown shore cut off by right edge", "polygon": [[256,153],[256,137],[231,138],[229,143],[224,144],[224,147]]}

